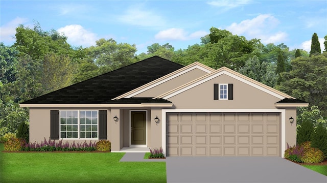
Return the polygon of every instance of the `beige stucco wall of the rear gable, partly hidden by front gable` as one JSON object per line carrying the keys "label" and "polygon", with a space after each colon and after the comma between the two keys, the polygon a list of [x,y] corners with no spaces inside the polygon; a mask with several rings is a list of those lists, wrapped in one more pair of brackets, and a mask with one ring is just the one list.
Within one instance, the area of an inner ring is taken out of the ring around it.
{"label": "beige stucco wall of the rear gable, partly hidden by front gable", "polygon": [[145,92],[137,94],[134,97],[156,97],[156,96],[164,94],[180,85],[183,85],[194,79],[197,79],[205,74],[207,74],[207,73],[200,69],[195,68],[187,73],[184,73],[184,74],[177,76],[171,80],[161,83],[153,88],[150,88],[150,89],[146,90]]}

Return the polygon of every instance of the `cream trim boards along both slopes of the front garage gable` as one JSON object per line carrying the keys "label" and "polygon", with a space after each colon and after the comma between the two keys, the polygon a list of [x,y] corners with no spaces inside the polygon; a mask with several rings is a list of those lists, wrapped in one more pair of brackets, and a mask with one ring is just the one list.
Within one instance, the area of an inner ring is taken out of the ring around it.
{"label": "cream trim boards along both slopes of the front garage gable", "polygon": [[184,92],[185,90],[193,88],[193,87],[195,87],[195,86],[197,86],[197,85],[199,85],[199,84],[201,84],[203,82],[211,80],[211,79],[213,79],[213,78],[215,78],[217,76],[220,76],[222,74],[226,74],[226,75],[228,75],[228,76],[230,76],[232,78],[235,78],[235,79],[237,79],[237,80],[239,80],[241,82],[249,84],[249,85],[251,85],[251,86],[253,86],[255,88],[258,88],[258,89],[262,90],[263,92],[265,92],[267,94],[270,94],[270,95],[272,95],[274,97],[277,97],[279,99],[284,99],[284,98],[295,99],[295,98],[293,98],[293,97],[291,97],[291,96],[289,96],[287,94],[279,92],[278,90],[276,90],[274,88],[271,88],[271,87],[269,87],[269,86],[267,86],[265,84],[262,84],[261,82],[255,81],[254,79],[251,79],[251,78],[249,78],[247,76],[244,76],[244,75],[242,75],[242,74],[240,74],[240,73],[238,73],[236,71],[233,71],[231,69],[228,69],[226,67],[222,67],[222,68],[216,70],[215,72],[208,73],[207,75],[204,75],[204,76],[202,76],[202,77],[200,77],[198,79],[195,79],[195,80],[193,80],[193,81],[191,81],[189,83],[186,83],[186,84],[184,84],[184,85],[182,85],[180,87],[177,87],[177,88],[175,88],[173,90],[170,90],[169,92],[167,92],[165,94],[157,96],[154,99],[162,98],[162,99],[167,100],[167,99],[169,99],[169,98],[171,98],[173,96],[176,96],[176,95]]}

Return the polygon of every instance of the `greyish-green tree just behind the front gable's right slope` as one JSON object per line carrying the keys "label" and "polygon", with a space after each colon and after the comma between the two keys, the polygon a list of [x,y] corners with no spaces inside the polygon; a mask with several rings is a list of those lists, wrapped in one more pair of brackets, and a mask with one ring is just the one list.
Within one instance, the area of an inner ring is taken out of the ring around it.
{"label": "greyish-green tree just behind the front gable's right slope", "polygon": [[245,66],[239,70],[239,73],[270,87],[275,86],[277,79],[274,65],[272,63],[260,62],[256,55],[245,62]]}

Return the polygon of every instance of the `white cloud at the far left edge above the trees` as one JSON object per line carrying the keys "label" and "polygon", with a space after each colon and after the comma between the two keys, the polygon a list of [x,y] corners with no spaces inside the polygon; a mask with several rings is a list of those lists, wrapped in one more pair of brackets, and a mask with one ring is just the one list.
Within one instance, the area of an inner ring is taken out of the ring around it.
{"label": "white cloud at the far left edge above the trees", "polygon": [[14,41],[15,39],[13,38],[16,34],[16,28],[18,27],[19,24],[23,24],[27,22],[27,18],[20,18],[17,17],[10,22],[4,24],[3,26],[0,27],[0,42],[11,42]]}

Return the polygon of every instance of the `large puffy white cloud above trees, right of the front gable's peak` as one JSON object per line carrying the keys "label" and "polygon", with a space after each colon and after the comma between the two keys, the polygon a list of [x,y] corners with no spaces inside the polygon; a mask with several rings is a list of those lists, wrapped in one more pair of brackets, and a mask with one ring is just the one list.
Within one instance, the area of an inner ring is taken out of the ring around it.
{"label": "large puffy white cloud above trees, right of the front gable's peak", "polygon": [[270,14],[262,14],[253,19],[243,20],[240,23],[232,23],[225,27],[228,31],[239,36],[245,36],[247,39],[261,39],[264,44],[279,43],[287,39],[284,32],[274,33],[274,28],[279,24],[279,20]]}

